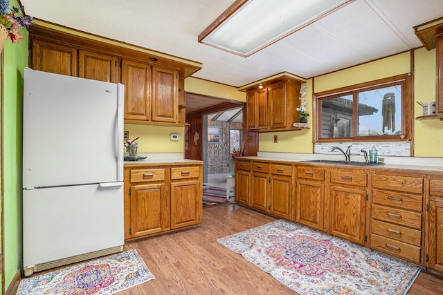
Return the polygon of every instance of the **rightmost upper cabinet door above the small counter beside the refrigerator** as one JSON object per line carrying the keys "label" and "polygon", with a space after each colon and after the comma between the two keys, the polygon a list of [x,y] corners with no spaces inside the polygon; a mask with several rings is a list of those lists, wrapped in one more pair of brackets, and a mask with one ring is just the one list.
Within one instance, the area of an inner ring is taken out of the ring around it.
{"label": "rightmost upper cabinet door above the small counter beside the refrigerator", "polygon": [[179,74],[177,70],[152,67],[152,114],[156,122],[179,121]]}

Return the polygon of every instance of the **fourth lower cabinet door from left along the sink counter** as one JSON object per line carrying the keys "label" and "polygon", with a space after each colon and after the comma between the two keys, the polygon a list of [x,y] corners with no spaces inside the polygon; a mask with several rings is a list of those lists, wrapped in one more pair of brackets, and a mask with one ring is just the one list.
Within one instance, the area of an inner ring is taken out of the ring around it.
{"label": "fourth lower cabinet door from left along the sink counter", "polygon": [[323,202],[325,184],[298,180],[296,222],[323,230]]}

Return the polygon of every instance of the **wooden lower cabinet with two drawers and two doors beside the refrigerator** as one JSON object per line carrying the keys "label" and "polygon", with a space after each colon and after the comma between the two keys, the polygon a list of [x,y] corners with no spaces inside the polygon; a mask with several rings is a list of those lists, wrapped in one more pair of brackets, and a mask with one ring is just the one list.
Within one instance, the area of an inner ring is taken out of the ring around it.
{"label": "wooden lower cabinet with two drawers and two doors beside the refrigerator", "polygon": [[201,223],[202,165],[125,165],[125,239]]}

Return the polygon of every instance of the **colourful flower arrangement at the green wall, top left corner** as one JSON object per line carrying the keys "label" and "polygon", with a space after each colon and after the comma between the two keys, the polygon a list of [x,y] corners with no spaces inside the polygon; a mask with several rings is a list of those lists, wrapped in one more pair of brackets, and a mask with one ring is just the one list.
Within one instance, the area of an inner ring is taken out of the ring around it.
{"label": "colourful flower arrangement at the green wall, top left corner", "polygon": [[[21,6],[21,11],[24,7]],[[0,25],[8,33],[9,39],[14,44],[18,44],[19,40],[24,39],[20,34],[20,30],[24,27],[32,25],[34,19],[29,15],[23,15],[19,8],[12,6],[9,8],[9,0],[0,0]]]}

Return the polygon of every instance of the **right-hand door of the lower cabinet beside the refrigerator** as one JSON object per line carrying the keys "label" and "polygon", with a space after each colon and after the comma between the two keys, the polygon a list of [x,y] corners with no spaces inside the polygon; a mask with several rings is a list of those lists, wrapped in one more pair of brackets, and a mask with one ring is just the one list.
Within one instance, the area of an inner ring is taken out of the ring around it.
{"label": "right-hand door of the lower cabinet beside the refrigerator", "polygon": [[202,196],[198,180],[171,183],[171,229],[200,222]]}

